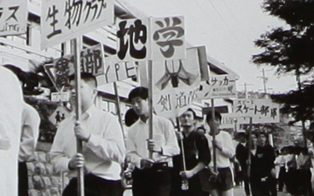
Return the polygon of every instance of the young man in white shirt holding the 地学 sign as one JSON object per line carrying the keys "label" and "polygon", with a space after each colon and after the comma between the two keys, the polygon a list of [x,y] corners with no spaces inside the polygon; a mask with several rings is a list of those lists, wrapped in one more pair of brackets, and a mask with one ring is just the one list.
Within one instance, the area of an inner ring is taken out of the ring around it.
{"label": "young man in white shirt holding the \u5730\u5b66 sign", "polygon": [[[134,88],[128,96],[139,116],[127,133],[127,160],[136,167],[132,172],[133,196],[168,196],[171,188],[172,156],[180,153],[170,120],[153,115],[153,139],[149,138],[148,89]],[[149,151],[153,151],[152,159]]]}

